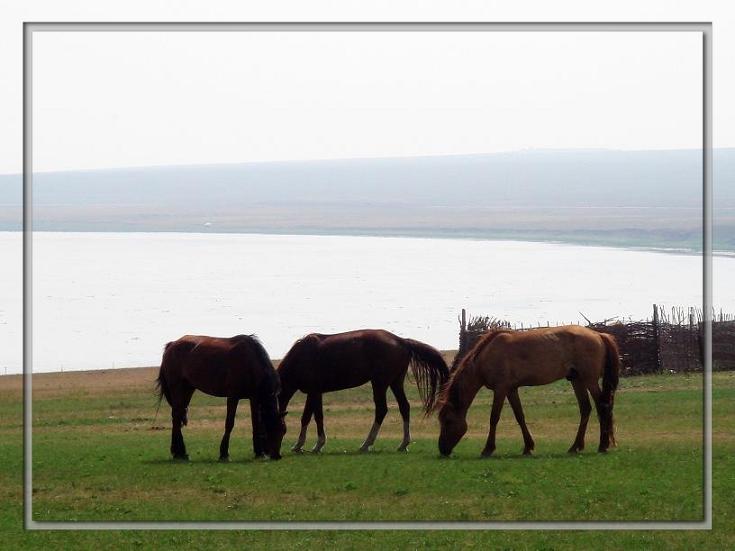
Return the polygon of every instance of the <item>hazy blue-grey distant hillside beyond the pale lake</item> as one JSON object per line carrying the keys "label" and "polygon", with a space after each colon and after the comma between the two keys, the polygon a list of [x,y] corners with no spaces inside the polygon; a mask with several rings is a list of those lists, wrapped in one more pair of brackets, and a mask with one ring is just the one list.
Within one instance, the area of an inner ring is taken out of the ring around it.
{"label": "hazy blue-grey distant hillside beyond the pale lake", "polygon": [[[57,231],[341,232],[696,248],[701,152],[492,155],[36,174],[34,227]],[[735,149],[715,152],[716,238],[735,249]],[[0,176],[0,229],[20,227]]]}

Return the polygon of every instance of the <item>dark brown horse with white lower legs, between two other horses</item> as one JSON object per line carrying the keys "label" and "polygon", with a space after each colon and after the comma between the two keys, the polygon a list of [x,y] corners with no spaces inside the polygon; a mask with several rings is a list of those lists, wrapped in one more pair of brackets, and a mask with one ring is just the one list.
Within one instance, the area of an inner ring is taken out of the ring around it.
{"label": "dark brown horse with white lower legs, between two other horses", "polygon": [[324,446],[327,440],[322,411],[324,392],[353,388],[367,382],[373,387],[375,422],[360,451],[368,451],[378,436],[380,425],[388,412],[388,387],[396,397],[403,418],[403,441],[398,450],[405,451],[411,443],[410,406],[403,390],[409,365],[428,414],[449,374],[441,354],[431,346],[374,329],[335,335],[313,333],[296,341],[278,366],[283,388],[281,411],[286,410],[297,390],[306,394],[301,432],[293,451],[302,451],[312,415],[316,419],[318,433],[313,451],[319,452]]}

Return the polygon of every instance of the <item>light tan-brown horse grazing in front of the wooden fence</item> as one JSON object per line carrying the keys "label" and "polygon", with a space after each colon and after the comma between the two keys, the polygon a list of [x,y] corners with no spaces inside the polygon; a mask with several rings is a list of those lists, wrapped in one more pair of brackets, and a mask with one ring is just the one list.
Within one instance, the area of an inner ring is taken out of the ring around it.
{"label": "light tan-brown horse grazing in front of the wooden fence", "polygon": [[[545,385],[566,378],[579,402],[580,422],[570,453],[584,449],[584,434],[592,411],[589,392],[600,420],[600,446],[615,445],[613,401],[618,386],[620,357],[615,339],[608,334],[570,325],[530,331],[491,331],[483,335],[453,370],[437,402],[441,434],[439,451],[449,455],[467,432],[467,410],[477,392],[493,390],[490,432],[483,457],[495,451],[495,429],[506,397],[521,427],[524,454],[534,448],[526,426],[518,387]],[[602,388],[598,379],[602,377]]]}

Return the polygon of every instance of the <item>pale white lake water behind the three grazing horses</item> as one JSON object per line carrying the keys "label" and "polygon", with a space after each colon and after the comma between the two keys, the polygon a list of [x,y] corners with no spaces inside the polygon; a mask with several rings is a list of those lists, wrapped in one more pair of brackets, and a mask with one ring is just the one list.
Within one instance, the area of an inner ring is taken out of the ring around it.
{"label": "pale white lake water behind the three grazing horses", "polygon": [[[0,233],[0,374],[21,371],[21,234]],[[273,358],[311,331],[385,328],[457,346],[461,308],[552,325],[701,305],[694,255],[509,241],[184,233],[34,234],[33,370],[157,365],[186,333],[256,333]],[[16,259],[17,262],[13,262]],[[735,259],[714,302],[735,312]]]}

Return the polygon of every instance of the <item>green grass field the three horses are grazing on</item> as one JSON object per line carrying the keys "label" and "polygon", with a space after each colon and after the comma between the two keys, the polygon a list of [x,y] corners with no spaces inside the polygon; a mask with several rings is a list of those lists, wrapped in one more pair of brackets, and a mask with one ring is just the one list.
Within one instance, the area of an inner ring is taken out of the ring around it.
{"label": "green grass field the three horses are grazing on", "polygon": [[[397,453],[395,402],[375,449],[356,452],[372,423],[369,387],[325,395],[328,442],[294,455],[303,397],[289,407],[282,461],[252,458],[249,408],[241,405],[232,461],[217,461],[224,401],[196,394],[184,437],[189,463],[168,457],[169,410],[156,419],[154,371],[34,377],[35,520],[699,520],[703,516],[701,375],[623,379],[616,399],[619,447],[597,454],[591,419],[584,453],[566,453],[578,413],[562,381],[522,389],[536,439],[533,457],[506,404],[498,449],[480,459],[490,394],[478,395],[470,431],[451,459],[438,457],[438,421],[409,398],[415,443]],[[22,420],[18,378],[0,378],[0,548],[225,548],[376,545],[433,548],[733,548],[735,373],[714,376],[712,532],[34,532],[22,531]],[[392,398],[392,397],[391,397]],[[315,430],[309,433],[313,443]]]}

